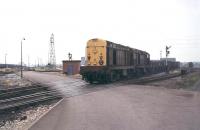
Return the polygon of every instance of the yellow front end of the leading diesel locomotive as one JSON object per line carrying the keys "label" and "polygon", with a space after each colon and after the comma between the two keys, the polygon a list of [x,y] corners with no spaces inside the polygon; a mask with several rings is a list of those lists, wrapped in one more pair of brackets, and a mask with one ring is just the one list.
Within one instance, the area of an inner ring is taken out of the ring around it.
{"label": "yellow front end of the leading diesel locomotive", "polygon": [[106,65],[107,42],[101,39],[91,39],[86,47],[86,65],[105,66]]}

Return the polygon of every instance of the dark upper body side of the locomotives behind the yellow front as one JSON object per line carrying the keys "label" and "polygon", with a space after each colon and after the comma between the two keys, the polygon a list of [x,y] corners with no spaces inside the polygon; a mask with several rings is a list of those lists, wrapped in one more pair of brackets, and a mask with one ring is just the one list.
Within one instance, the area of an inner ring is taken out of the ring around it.
{"label": "dark upper body side of the locomotives behind the yellow front", "polygon": [[136,67],[149,64],[150,55],[147,52],[112,43],[110,41],[107,41],[107,45],[107,60],[109,66]]}

